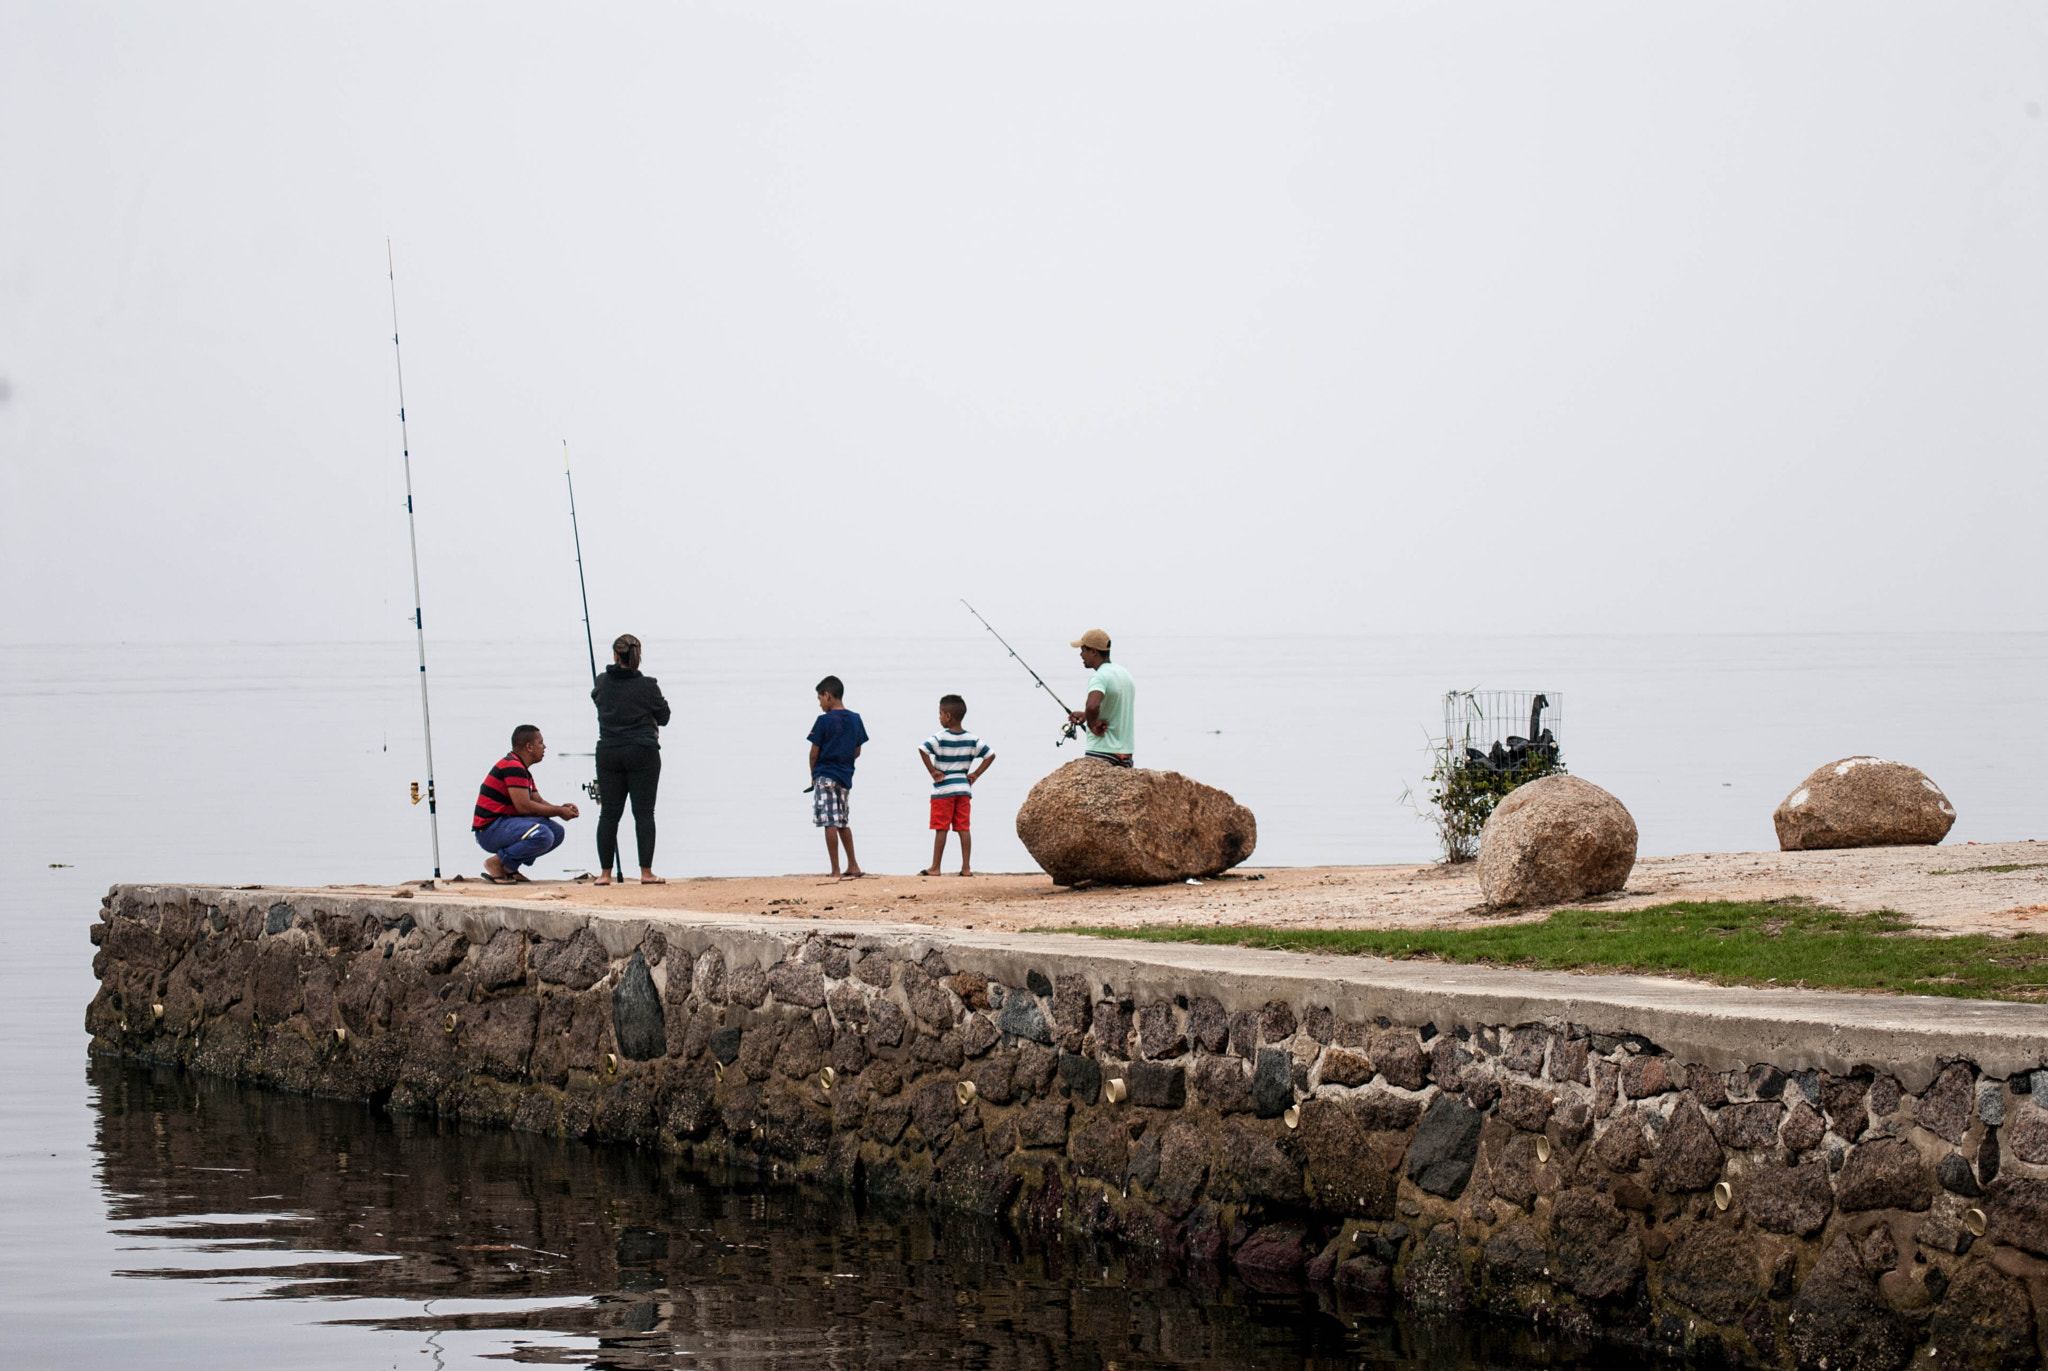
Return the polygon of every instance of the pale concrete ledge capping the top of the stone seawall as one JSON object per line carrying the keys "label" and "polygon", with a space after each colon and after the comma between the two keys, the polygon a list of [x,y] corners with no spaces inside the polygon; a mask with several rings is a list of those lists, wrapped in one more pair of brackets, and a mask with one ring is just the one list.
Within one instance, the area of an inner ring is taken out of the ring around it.
{"label": "pale concrete ledge capping the top of the stone seawall", "polygon": [[[203,885],[121,889],[143,902],[172,904],[252,896]],[[590,928],[614,957],[629,955],[651,928],[659,928],[692,955],[719,949],[727,963],[752,961],[762,969],[803,941],[829,934],[850,947],[887,949],[909,961],[938,951],[956,969],[981,971],[1010,986],[1022,986],[1032,967],[1049,961],[1114,986],[1120,996],[1141,998],[1171,998],[1190,978],[1214,978],[1206,988],[1229,1010],[1257,1008],[1268,1000],[1313,1000],[1343,1019],[1386,1016],[1409,1027],[1434,1023],[1446,1033],[1487,1025],[1579,1025],[1591,1033],[1647,1037],[1679,1062],[1718,1072],[1755,1064],[1772,1064],[1786,1074],[1825,1070],[1837,1076],[1882,1068],[1909,1092],[1925,1090],[1944,1062],[1974,1062],[1997,1080],[2048,1068],[2048,1006],[2007,1000],[1749,990],[1655,975],[1501,971],[1249,947],[885,922],[825,924],[688,910],[621,916],[449,896],[336,898],[289,887],[260,894],[272,902],[311,902],[350,918],[397,922],[410,914],[420,928],[459,930],[475,945],[487,943],[496,928],[520,928],[543,939],[567,939],[578,928]]]}

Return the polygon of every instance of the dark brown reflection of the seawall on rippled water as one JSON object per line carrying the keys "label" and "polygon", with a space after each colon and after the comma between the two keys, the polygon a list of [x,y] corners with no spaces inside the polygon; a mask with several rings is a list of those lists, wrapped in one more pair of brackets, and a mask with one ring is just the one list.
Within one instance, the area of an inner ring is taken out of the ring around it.
{"label": "dark brown reflection of the seawall on rippled water", "polygon": [[133,1258],[121,1275],[332,1301],[326,1322],[418,1334],[434,1365],[457,1340],[623,1369],[1622,1365],[637,1150],[113,1062],[92,1084],[100,1185]]}

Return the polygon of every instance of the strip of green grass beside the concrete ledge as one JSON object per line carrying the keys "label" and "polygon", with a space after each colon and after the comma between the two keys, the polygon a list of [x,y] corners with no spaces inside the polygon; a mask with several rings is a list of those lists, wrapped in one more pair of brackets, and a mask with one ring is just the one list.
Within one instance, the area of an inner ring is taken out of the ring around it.
{"label": "strip of green grass beside the concrete ledge", "polygon": [[1935,937],[1903,914],[1845,914],[1802,902],[1679,902],[1649,910],[1561,910],[1481,928],[1251,928],[1151,924],[1063,928],[1102,939],[1270,947],[1393,959],[1479,961],[1544,971],[1647,971],[1722,986],[1890,990],[1982,1000],[2048,998],[2048,937]]}

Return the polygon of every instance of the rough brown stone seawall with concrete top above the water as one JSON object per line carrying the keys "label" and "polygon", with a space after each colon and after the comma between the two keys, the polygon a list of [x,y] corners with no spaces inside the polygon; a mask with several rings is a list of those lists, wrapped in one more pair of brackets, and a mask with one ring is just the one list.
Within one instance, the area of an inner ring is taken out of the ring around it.
{"label": "rough brown stone seawall with concrete top above the water", "polygon": [[123,885],[94,1049],[1772,1367],[2040,1365],[2048,1012]]}

